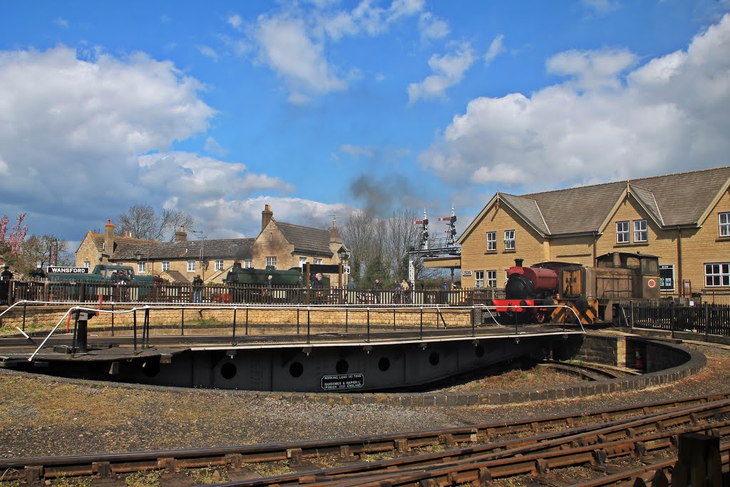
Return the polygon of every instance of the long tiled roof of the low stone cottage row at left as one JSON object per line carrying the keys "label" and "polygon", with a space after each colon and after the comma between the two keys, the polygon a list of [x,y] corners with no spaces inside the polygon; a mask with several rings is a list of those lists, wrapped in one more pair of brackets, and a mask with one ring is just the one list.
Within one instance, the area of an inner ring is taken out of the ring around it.
{"label": "long tiled roof of the low stone cottage row at left", "polygon": [[[114,237],[115,242],[118,237]],[[201,250],[205,258],[251,258],[251,245],[254,239],[183,240],[182,242],[123,242],[117,245],[112,260],[134,260],[135,254],[143,258],[161,260],[165,258],[200,258]]]}

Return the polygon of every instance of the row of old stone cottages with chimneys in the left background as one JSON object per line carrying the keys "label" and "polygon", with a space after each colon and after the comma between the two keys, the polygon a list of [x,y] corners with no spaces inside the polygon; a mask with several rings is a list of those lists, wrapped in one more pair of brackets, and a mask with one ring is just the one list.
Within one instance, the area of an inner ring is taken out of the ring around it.
{"label": "row of old stone cottages with chimneys in the left background", "polygon": [[339,264],[342,247],[337,222],[329,230],[274,220],[267,204],[261,212],[261,233],[255,238],[188,240],[184,228],[174,242],[117,236],[107,221],[104,234],[88,231],[76,251],[76,265],[135,266],[139,275],[159,275],[177,283],[190,283],[200,275],[205,283],[220,283],[235,262],[244,267],[290,269],[309,264]]}

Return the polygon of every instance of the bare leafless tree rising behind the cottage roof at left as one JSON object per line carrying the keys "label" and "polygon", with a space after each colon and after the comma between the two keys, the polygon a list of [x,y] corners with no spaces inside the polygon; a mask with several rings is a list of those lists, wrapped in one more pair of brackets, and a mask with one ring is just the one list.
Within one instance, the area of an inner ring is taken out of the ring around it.
{"label": "bare leafless tree rising behind the cottage roof at left", "polygon": [[163,210],[158,216],[149,204],[134,204],[119,215],[116,231],[120,234],[128,231],[132,237],[145,240],[161,240],[168,234],[172,241],[180,226],[192,227],[193,217],[181,210]]}

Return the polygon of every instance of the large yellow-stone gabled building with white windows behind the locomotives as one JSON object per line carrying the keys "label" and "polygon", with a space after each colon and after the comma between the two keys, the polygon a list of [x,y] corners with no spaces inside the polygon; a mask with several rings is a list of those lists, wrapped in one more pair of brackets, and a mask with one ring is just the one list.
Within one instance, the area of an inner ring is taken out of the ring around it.
{"label": "large yellow-stone gabled building with white windows behind the locomotives", "polygon": [[[458,239],[462,284],[503,287],[524,265],[658,256],[662,290],[730,290],[730,167],[526,195],[498,191]],[[679,284],[678,284],[679,283]]]}

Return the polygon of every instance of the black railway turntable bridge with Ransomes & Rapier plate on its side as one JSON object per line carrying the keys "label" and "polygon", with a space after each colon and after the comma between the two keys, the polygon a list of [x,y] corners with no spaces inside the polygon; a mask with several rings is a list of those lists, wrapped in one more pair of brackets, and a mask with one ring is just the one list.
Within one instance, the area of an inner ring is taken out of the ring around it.
{"label": "black railway turntable bridge with Ransomes & Rapier plate on its side", "polygon": [[[466,321],[424,326],[423,309],[412,313],[421,317],[414,323],[407,320],[404,308],[397,310],[403,314],[399,318],[393,312],[393,324],[371,322],[368,315],[366,323],[312,326],[307,316],[306,328],[281,323],[254,329],[246,323],[243,329],[234,321],[178,333],[169,326],[155,326],[150,318],[155,307],[136,310],[144,312],[145,319],[138,323],[135,318],[126,328],[118,326],[112,336],[104,327],[88,328],[93,320],[101,321],[93,313],[104,310],[74,307],[69,310],[74,315],[73,330],[67,333],[1,338],[0,366],[158,386],[387,391],[423,386],[522,357],[569,356],[584,335],[582,329],[557,326],[477,326],[469,320],[470,310],[464,310]],[[284,312],[273,307],[269,311]],[[316,311],[334,313],[331,307]],[[407,324],[396,326],[397,320]]]}

